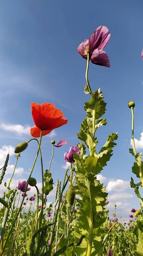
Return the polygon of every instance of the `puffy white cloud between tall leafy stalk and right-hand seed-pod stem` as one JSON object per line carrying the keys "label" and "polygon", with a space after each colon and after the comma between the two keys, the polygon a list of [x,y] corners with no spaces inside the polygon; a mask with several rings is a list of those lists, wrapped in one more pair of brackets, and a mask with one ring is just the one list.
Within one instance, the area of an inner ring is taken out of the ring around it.
{"label": "puffy white cloud between tall leafy stalk and right-hand seed-pod stem", "polygon": [[127,188],[130,188],[130,183],[127,180],[110,180],[107,185],[107,191],[124,191]]}

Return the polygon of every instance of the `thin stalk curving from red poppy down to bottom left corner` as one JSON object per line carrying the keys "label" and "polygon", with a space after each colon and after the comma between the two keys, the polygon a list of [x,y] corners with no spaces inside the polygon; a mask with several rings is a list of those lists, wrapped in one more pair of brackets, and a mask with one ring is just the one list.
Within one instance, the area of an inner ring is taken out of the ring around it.
{"label": "thin stalk curving from red poppy down to bottom left corner", "polygon": [[[35,160],[34,160],[34,163],[33,163],[33,166],[32,166],[32,169],[31,169],[31,172],[30,172],[30,175],[29,175],[29,178],[28,178],[26,190],[27,190],[27,188],[28,188],[29,180],[30,180],[30,178],[31,178],[31,175],[32,175],[32,172],[33,172],[33,169],[34,169],[34,166],[35,166],[35,163],[36,163],[38,154],[39,154],[40,145],[41,145],[41,140],[42,140],[42,131],[41,131],[41,134],[40,134],[40,141],[39,141],[39,146],[38,146],[37,154],[36,154],[36,157],[35,157]],[[19,211],[17,212],[16,218],[15,218],[15,220],[14,220],[12,226],[11,226],[10,232],[9,232],[9,234],[8,234],[8,236],[7,236],[6,241],[5,241],[4,248],[3,248],[3,251],[2,251],[1,256],[2,256],[3,253],[4,253],[4,249],[5,249],[5,247],[6,247],[6,244],[7,244],[8,240],[9,240],[9,237],[10,237],[10,235],[11,235],[12,229],[13,229],[13,227],[14,227],[14,225],[15,225],[15,222],[16,222],[18,216],[19,216],[19,212],[21,211],[21,208],[22,208],[22,205],[23,205],[23,202],[24,202],[24,198],[25,198],[25,195],[26,195],[26,190],[25,190],[25,193],[24,193],[24,196],[23,196],[21,205],[20,205],[20,207],[19,207]]]}

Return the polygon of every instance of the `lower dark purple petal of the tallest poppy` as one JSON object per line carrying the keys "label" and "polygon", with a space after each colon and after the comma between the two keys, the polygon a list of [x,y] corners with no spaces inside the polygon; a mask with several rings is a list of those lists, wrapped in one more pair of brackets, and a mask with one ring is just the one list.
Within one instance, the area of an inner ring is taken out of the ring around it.
{"label": "lower dark purple petal of the tallest poppy", "polygon": [[91,62],[105,67],[110,67],[109,58],[102,49],[95,49],[91,56]]}

